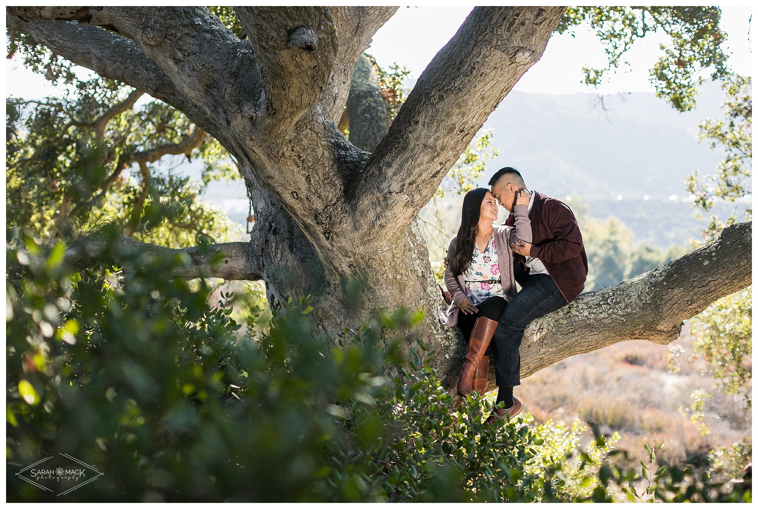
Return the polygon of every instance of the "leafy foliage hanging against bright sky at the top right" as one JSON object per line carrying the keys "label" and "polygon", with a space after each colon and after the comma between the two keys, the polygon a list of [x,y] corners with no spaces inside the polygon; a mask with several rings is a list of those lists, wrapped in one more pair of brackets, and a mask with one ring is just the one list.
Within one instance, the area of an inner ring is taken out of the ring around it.
{"label": "leafy foliage hanging against bright sky at the top right", "polygon": [[669,36],[663,52],[650,70],[656,95],[678,111],[695,106],[696,85],[710,72],[713,80],[729,73],[722,48],[726,34],[720,29],[721,9],[716,7],[572,7],[563,14],[557,33],[570,33],[587,23],[597,33],[608,55],[603,69],[584,67],[584,83],[598,86],[607,71],[617,69],[638,39],[661,31]]}

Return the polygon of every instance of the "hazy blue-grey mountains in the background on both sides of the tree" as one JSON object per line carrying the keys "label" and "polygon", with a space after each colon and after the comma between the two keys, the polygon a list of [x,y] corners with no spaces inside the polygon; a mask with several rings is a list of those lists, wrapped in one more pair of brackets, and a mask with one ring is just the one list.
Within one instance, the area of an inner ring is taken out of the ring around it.
{"label": "hazy blue-grey mountains in the background on both sides of the tree", "polygon": [[[713,173],[721,159],[697,142],[697,124],[719,117],[722,100],[713,83],[703,86],[697,109],[685,113],[652,93],[606,96],[603,110],[597,95],[510,92],[484,123],[493,127],[500,155],[487,161],[481,185],[498,168],[512,166],[530,188],[571,196],[566,203],[581,201],[590,217],[619,217],[637,241],[659,248],[684,244],[706,224],[694,219],[684,178],[696,168]],[[199,164],[183,168],[199,175]],[[212,183],[205,199],[240,223],[247,216],[241,181]],[[730,212],[726,205],[716,210],[719,217]]]}

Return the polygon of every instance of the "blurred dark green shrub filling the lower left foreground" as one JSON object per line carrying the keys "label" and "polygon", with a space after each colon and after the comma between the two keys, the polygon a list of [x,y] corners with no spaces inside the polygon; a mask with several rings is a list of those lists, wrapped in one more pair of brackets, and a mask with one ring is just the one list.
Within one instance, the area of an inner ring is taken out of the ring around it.
{"label": "blurred dark green shrub filling the lower left foreground", "polygon": [[597,472],[617,436],[581,448],[578,423],[528,414],[483,426],[490,404],[454,406],[433,352],[419,342],[399,356],[393,337],[418,314],[334,345],[303,297],[240,338],[229,293],[211,307],[204,280],[164,277],[180,257],[77,272],[64,245],[22,244],[7,251],[9,501],[52,501],[13,473],[58,452],[105,473],[67,495],[76,501],[612,496]]}

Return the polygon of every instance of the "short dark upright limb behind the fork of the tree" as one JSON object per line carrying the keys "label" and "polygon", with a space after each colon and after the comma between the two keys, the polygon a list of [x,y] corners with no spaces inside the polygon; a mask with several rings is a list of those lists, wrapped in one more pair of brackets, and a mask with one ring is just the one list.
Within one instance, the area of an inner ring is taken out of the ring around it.
{"label": "short dark upright limb behind the fork of the tree", "polygon": [[390,113],[381,95],[379,77],[368,58],[361,54],[352,73],[347,98],[350,142],[361,150],[374,151],[390,129]]}

